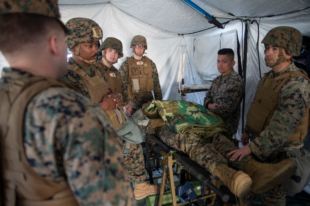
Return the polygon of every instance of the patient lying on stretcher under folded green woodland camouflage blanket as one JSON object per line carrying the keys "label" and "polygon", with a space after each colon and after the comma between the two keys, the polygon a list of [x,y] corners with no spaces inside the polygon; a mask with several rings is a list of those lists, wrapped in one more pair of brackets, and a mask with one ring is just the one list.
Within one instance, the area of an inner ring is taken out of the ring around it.
{"label": "patient lying on stretcher under folded green woodland camouflage blanket", "polygon": [[228,153],[238,148],[227,138],[227,126],[206,107],[193,102],[153,100],[136,111],[132,119],[143,132],[155,134],[175,150],[187,153],[240,198],[250,190],[267,191],[290,178],[297,168],[290,159],[267,164],[248,155],[241,161],[230,161]]}

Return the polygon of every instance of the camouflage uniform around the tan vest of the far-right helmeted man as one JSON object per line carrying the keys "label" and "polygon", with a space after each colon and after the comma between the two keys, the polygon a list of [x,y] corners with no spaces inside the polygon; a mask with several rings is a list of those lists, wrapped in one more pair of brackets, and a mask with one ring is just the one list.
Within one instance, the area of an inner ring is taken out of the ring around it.
{"label": "camouflage uniform around the tan vest of the far-right helmeted man", "polygon": [[[299,71],[299,69],[291,63],[279,75],[289,71]],[[274,78],[273,72],[269,74],[268,78]],[[304,77],[295,77],[286,81],[279,93],[280,104],[274,112],[269,126],[257,135],[251,132],[246,124],[245,132],[251,134],[251,142],[247,145],[257,157],[267,162],[276,163],[279,162],[277,153],[303,146],[302,140],[290,142],[286,142],[286,140],[294,132],[305,108],[310,106],[309,88],[310,82]],[[262,204],[285,205],[286,193],[283,187],[279,185],[263,193]]]}

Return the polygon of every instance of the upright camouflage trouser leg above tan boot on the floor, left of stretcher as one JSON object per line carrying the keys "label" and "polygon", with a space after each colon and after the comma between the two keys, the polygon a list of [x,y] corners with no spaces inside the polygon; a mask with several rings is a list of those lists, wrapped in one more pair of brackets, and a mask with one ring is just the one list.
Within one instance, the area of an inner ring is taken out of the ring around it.
{"label": "upright camouflage trouser leg above tan boot on the floor, left of stretcher", "polygon": [[[122,153],[125,146],[126,141],[122,139]],[[142,145],[130,143],[128,155],[123,157],[131,181],[136,184],[144,182],[147,172],[144,166]]]}

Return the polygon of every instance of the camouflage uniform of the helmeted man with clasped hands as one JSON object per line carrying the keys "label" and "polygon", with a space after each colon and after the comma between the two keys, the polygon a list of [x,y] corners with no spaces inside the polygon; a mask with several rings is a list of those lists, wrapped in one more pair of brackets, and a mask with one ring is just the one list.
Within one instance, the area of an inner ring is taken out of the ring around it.
{"label": "camouflage uniform of the helmeted man with clasped hands", "polygon": [[[100,75],[102,78],[104,78],[104,74],[100,69],[95,69],[94,66],[82,66],[73,61],[71,57],[69,58],[68,65],[77,65],[80,69],[84,69],[90,77]],[[83,79],[75,72],[67,70],[67,73],[61,77],[61,80],[75,84],[81,90],[83,95],[85,95],[87,98],[90,98]],[[125,150],[126,141],[122,139],[121,142],[123,153]],[[141,144],[130,144],[129,153],[126,157],[124,157],[124,163],[127,167],[128,174],[134,183],[144,182],[144,180],[147,178],[147,172],[144,166],[143,149]]]}

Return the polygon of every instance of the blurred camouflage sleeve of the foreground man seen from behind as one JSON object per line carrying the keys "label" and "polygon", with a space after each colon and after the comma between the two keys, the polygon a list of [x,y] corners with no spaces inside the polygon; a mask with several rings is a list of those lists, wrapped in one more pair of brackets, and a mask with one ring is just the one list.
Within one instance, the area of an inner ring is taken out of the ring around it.
{"label": "blurred camouflage sleeve of the foreground man seen from behind", "polygon": [[99,104],[49,88],[29,102],[25,136],[33,170],[69,185],[79,205],[134,205],[120,144]]}

